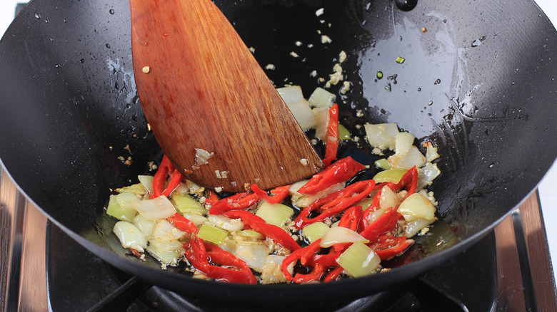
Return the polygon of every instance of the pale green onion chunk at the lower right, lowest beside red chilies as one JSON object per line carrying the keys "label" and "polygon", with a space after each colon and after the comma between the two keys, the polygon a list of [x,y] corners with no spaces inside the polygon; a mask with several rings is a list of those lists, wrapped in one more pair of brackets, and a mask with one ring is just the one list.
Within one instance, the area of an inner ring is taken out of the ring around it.
{"label": "pale green onion chunk at the lower right, lowest beside red chilies", "polygon": [[359,277],[376,273],[381,259],[371,248],[361,241],[356,241],[338,256],[336,262],[349,275]]}

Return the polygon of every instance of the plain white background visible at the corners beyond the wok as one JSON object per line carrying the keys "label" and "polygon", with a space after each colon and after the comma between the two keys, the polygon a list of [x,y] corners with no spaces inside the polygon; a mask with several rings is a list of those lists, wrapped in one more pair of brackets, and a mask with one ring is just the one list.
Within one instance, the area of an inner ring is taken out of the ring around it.
{"label": "plain white background visible at the corners beyond the wok", "polygon": [[[18,2],[24,2],[24,0],[0,0],[0,34],[6,31],[14,19],[14,12]],[[557,1],[536,0],[536,3],[546,13],[548,18],[553,21],[553,25],[557,25]],[[555,187],[557,187],[557,165],[553,164],[550,172],[548,172],[539,186],[543,219],[546,223],[553,268],[557,268],[557,191],[554,190]],[[536,259],[532,260],[536,261]]]}

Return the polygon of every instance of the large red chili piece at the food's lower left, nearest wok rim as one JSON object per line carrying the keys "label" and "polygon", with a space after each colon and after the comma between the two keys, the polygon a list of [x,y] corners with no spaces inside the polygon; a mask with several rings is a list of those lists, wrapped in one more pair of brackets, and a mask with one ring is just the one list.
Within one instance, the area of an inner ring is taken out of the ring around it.
{"label": "large red chili piece at the food's lower left, nearest wok rim", "polygon": [[[211,279],[241,284],[256,284],[257,282],[246,262],[215,244],[192,236],[189,244],[184,244],[184,249],[186,249],[186,258],[191,265]],[[209,260],[220,266],[210,264]]]}

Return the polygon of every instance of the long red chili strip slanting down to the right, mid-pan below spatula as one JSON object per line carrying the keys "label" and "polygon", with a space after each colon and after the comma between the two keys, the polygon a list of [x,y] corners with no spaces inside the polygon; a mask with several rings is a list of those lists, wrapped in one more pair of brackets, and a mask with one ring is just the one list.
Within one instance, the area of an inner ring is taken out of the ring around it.
{"label": "long red chili strip slanting down to the right, mid-pan below spatula", "polygon": [[273,239],[276,244],[286,247],[290,250],[300,249],[300,246],[296,241],[286,233],[285,230],[277,227],[276,225],[266,223],[261,217],[252,214],[251,212],[246,212],[245,210],[232,210],[229,212],[224,212],[224,216],[231,219],[241,219],[244,224],[254,229],[256,232],[263,234],[270,239]]}

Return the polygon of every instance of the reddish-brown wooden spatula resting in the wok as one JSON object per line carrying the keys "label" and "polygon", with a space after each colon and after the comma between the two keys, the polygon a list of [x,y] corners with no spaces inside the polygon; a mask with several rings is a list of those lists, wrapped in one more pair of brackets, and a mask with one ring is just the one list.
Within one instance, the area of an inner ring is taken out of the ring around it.
{"label": "reddish-brown wooden spatula resting in the wok", "polygon": [[211,1],[130,4],[139,100],[163,151],[186,177],[242,192],[322,169],[271,81]]}

